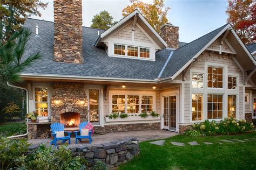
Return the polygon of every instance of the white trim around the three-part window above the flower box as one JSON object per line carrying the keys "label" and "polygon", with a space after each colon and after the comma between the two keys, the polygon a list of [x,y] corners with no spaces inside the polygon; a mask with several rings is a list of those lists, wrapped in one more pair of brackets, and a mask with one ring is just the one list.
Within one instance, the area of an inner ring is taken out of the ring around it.
{"label": "white trim around the three-part window above the flower box", "polygon": [[[127,113],[127,96],[128,95],[137,95],[139,96],[139,115],[142,109],[142,96],[153,96],[153,111],[156,111],[156,92],[143,92],[143,91],[110,91],[110,100],[109,100],[109,114],[112,113],[112,96],[113,95],[125,95],[125,113]],[[134,115],[134,114],[133,114]]]}

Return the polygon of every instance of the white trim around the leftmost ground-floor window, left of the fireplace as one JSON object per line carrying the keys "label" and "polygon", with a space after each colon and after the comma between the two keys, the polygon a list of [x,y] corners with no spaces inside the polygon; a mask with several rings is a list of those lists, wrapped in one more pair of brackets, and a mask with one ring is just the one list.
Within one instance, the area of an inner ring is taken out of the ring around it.
{"label": "white trim around the leftmost ground-floor window, left of the fireplace", "polygon": [[48,118],[51,118],[51,86],[48,83],[33,83],[32,86],[32,93],[33,93],[33,99],[32,99],[32,111],[36,111],[36,94],[35,94],[35,88],[48,88]]}

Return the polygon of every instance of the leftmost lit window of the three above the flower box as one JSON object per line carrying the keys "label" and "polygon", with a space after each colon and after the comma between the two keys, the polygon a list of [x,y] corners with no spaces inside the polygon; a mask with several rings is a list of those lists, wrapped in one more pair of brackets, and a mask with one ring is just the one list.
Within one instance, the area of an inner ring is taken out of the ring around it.
{"label": "leftmost lit window of the three above the flower box", "polygon": [[125,95],[112,96],[112,112],[125,112]]}

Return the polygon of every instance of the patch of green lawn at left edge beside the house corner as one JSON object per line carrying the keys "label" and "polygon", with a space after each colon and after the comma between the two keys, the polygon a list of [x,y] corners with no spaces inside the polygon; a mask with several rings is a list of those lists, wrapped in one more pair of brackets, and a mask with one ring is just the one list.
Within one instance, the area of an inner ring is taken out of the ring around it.
{"label": "patch of green lawn at left edge beside the house corner", "polygon": [[12,136],[26,133],[26,125],[21,122],[8,122],[0,124],[0,136]]}

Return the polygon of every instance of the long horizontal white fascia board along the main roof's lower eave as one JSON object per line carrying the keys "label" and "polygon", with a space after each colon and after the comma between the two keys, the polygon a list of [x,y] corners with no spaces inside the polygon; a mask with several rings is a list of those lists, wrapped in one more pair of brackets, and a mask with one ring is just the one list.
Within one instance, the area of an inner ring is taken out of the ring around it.
{"label": "long horizontal white fascia board along the main roof's lower eave", "polygon": [[109,82],[134,82],[134,83],[158,83],[157,80],[148,79],[124,79],[116,77],[91,77],[91,76],[71,76],[71,75],[48,75],[48,74],[20,74],[22,78],[39,79],[60,79],[60,80],[87,80],[87,81],[109,81]]}

